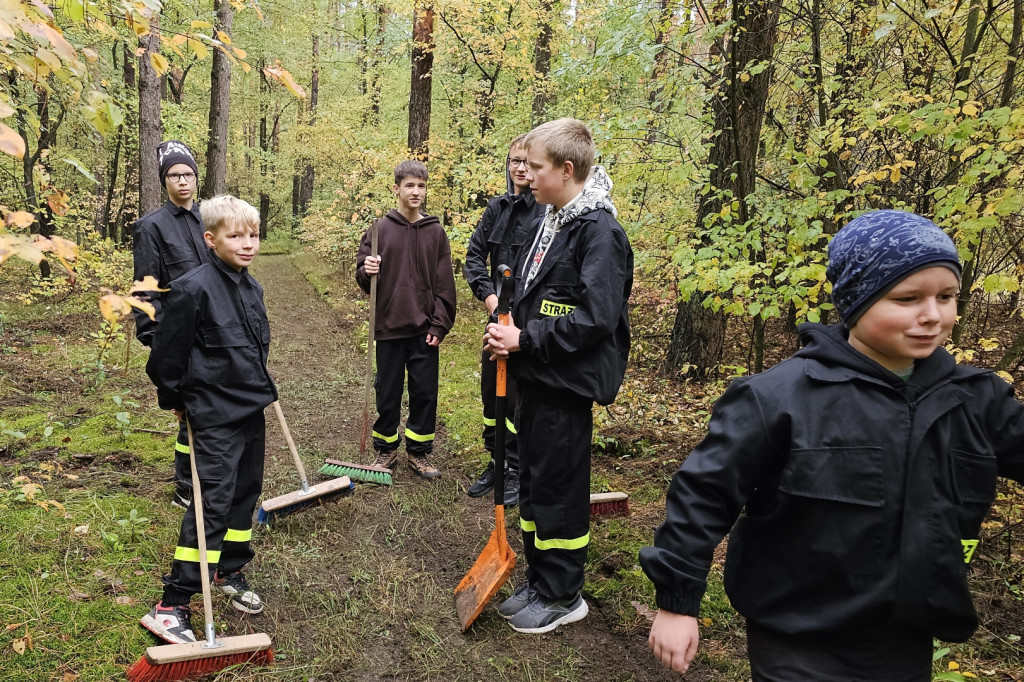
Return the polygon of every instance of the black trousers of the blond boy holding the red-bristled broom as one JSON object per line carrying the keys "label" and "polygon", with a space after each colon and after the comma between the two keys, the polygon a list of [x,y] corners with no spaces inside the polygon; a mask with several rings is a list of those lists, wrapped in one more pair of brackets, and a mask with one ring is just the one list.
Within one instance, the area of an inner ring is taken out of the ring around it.
{"label": "black trousers of the blond boy holding the red-bristled broom", "polygon": [[[222,576],[241,570],[254,556],[250,542],[253,512],[263,489],[265,437],[262,410],[230,424],[193,431],[211,573],[214,569]],[[186,604],[202,591],[198,497],[185,510],[171,572],[164,577],[165,605]]]}

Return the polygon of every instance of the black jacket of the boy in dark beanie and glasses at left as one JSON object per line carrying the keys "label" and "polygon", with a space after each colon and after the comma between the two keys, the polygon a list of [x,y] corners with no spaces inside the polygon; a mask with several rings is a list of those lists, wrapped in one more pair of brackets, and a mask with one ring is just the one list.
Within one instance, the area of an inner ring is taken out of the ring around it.
{"label": "black jacket of the boy in dark beanie and glasses at left", "polygon": [[[134,279],[150,274],[157,278],[161,289],[193,268],[213,260],[213,252],[203,241],[203,220],[199,206],[193,203],[185,210],[167,202],[156,211],[135,221],[132,236]],[[157,309],[157,322],[167,296],[166,292],[148,292],[150,302]],[[153,344],[157,322],[144,312],[132,308],[135,315],[135,336],[142,344]]]}

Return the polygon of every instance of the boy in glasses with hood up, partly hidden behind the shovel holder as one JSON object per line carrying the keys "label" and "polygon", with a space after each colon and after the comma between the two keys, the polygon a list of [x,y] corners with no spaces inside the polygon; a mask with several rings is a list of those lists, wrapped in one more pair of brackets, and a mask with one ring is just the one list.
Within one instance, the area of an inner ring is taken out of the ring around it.
{"label": "boy in glasses with hood up, partly hidden behind the shovel holder", "polygon": [[[544,215],[544,205],[534,200],[534,193],[526,179],[526,150],[522,147],[525,135],[512,140],[505,159],[505,181],[508,191],[487,202],[487,208],[476,225],[466,248],[466,282],[473,295],[483,301],[489,315],[488,322],[498,322],[498,267],[512,265],[519,248],[531,236],[530,228]],[[490,269],[487,270],[487,260]],[[497,365],[490,353],[483,349],[480,358],[480,398],[483,400],[483,446],[490,454],[487,468],[469,486],[469,497],[479,498],[495,488],[495,388]],[[515,406],[515,380],[508,377],[506,392],[510,406]],[[514,420],[506,420],[508,436],[505,440],[505,504],[519,503],[519,454],[516,446]]]}

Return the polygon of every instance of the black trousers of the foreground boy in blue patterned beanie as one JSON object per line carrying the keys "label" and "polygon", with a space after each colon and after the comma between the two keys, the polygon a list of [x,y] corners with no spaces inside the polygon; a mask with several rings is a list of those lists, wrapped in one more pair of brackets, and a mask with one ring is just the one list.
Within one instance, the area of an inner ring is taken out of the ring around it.
{"label": "black trousers of the foreground boy in blue patterned beanie", "polygon": [[853,632],[782,635],[746,624],[753,682],[929,682],[932,638],[896,624]]}

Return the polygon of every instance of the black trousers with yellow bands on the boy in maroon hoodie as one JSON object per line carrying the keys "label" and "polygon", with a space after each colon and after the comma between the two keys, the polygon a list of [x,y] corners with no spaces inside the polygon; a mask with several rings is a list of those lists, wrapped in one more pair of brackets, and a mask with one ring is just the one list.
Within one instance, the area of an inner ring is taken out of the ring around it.
{"label": "black trousers with yellow bands on the boy in maroon hoodie", "polygon": [[406,450],[414,457],[429,455],[434,449],[437,423],[436,346],[427,344],[426,333],[404,339],[377,342],[377,421],[374,422],[374,450],[390,453],[401,438],[401,393],[409,372],[409,419],[406,421]]}

